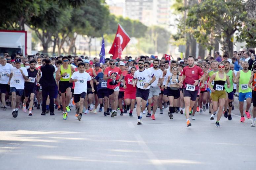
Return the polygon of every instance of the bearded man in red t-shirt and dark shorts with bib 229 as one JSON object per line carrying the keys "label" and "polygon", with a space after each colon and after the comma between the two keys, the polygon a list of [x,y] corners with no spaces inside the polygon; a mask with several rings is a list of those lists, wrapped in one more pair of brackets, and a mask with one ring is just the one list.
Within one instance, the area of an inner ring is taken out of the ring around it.
{"label": "bearded man in red t-shirt and dark shorts with bib 229", "polygon": [[[188,66],[183,68],[183,75],[180,81],[180,86],[184,85],[183,94],[187,126],[191,126],[189,121],[189,107],[192,108],[194,106],[199,90],[198,84],[203,80],[203,71],[199,66],[194,65],[194,61],[195,58],[193,56],[188,56]],[[200,79],[199,76],[201,76]]]}

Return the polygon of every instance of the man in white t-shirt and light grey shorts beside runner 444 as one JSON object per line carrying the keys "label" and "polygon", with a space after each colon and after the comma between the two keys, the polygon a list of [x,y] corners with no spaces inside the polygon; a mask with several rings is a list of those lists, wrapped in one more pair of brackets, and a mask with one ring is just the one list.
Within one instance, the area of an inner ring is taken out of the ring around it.
{"label": "man in white t-shirt and light grey shorts beside runner 444", "polygon": [[[162,80],[163,80],[163,71],[160,70],[158,68],[159,66],[159,60],[155,59],[153,61],[153,67],[148,68],[148,70],[150,70],[154,76],[156,77],[156,80],[150,85],[149,88],[149,96],[148,96],[148,114],[147,117],[150,117],[150,111],[151,110],[151,104],[154,103],[153,105],[153,114],[151,116],[152,120],[156,120],[155,119],[155,113],[157,110],[157,106],[158,106],[158,98],[159,98],[159,94],[161,93],[160,91],[160,85],[162,84]],[[154,100],[153,100],[154,98]],[[143,108],[142,108],[143,109]],[[160,114],[163,113],[163,110],[160,111]]]}

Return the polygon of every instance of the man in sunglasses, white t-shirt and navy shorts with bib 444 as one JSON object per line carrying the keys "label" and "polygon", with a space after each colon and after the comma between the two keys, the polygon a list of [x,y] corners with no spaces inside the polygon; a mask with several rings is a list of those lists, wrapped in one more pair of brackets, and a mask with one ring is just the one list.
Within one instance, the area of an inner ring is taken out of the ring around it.
{"label": "man in sunglasses, white t-shirt and navy shorts with bib 444", "polygon": [[[146,108],[149,96],[149,88],[150,85],[156,80],[156,77],[150,70],[144,68],[144,60],[140,59],[138,61],[138,66],[139,70],[135,71],[132,79],[132,84],[135,85],[137,79],[136,111],[138,115],[138,125],[140,125],[142,123],[140,113],[143,112],[143,108]],[[140,109],[140,107],[142,107],[142,110]]]}

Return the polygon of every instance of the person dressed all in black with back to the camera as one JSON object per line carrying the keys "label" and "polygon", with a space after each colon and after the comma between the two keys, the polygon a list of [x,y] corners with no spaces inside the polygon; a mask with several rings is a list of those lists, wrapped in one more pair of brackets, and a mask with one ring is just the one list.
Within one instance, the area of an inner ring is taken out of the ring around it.
{"label": "person dressed all in black with back to the camera", "polygon": [[39,84],[42,86],[42,110],[41,115],[45,115],[46,112],[46,100],[49,95],[50,98],[50,115],[54,115],[54,95],[55,95],[55,87],[56,81],[54,79],[55,68],[53,65],[50,65],[51,59],[45,59],[45,65],[41,66],[42,77],[39,81]]}

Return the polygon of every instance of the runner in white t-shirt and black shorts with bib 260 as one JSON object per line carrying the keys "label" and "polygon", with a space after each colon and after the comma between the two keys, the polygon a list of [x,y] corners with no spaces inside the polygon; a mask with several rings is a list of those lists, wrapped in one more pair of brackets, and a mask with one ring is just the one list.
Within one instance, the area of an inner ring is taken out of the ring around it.
{"label": "runner in white t-shirt and black shorts with bib 260", "polygon": [[6,58],[1,57],[1,65],[0,65],[0,91],[1,91],[1,99],[3,110],[6,110],[5,103],[5,95],[6,92],[10,92],[10,85],[8,85],[9,76],[11,74],[11,69],[13,68],[12,64],[6,63]]}

